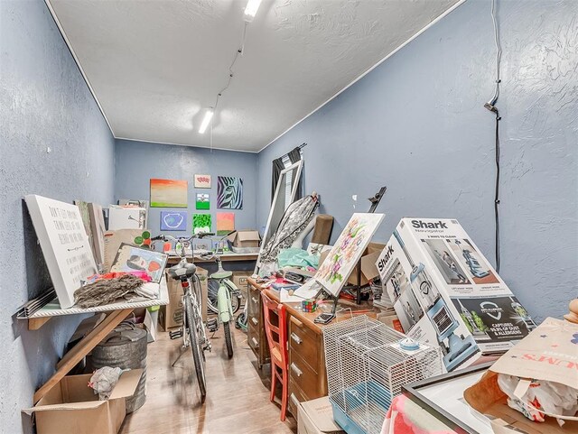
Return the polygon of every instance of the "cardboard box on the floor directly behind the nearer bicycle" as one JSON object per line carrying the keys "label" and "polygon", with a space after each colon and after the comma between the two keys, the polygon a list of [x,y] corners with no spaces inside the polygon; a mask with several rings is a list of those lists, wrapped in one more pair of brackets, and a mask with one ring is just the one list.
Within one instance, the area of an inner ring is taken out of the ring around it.
{"label": "cardboard box on the floor directly behind the nearer bicycle", "polygon": [[[202,320],[207,320],[207,297],[209,294],[209,272],[197,265],[197,275],[200,279],[200,291],[202,301]],[[169,328],[177,328],[182,325],[182,286],[181,281],[166,276],[167,289],[169,292],[169,304],[159,309],[159,324],[166,331]]]}

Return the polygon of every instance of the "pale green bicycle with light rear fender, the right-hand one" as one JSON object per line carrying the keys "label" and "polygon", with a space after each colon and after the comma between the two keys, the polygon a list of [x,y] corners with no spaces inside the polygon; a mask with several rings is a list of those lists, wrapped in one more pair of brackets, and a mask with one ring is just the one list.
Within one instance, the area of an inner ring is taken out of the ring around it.
{"label": "pale green bicycle with light rear fender, the right-hand one", "polygon": [[[234,231],[228,235],[234,234]],[[228,235],[223,236],[222,241]],[[230,281],[233,272],[228,272],[223,268],[223,263],[219,254],[211,252],[200,256],[203,259],[215,258],[218,265],[217,272],[213,272],[209,276],[209,302],[208,307],[211,311],[218,314],[219,322],[223,325],[223,332],[225,335],[225,346],[227,348],[227,356],[233,356],[233,340],[231,336],[231,322],[234,321],[234,313],[238,311],[241,304],[241,292],[237,285]],[[216,288],[215,288],[216,287]],[[216,331],[219,324],[213,330]]]}

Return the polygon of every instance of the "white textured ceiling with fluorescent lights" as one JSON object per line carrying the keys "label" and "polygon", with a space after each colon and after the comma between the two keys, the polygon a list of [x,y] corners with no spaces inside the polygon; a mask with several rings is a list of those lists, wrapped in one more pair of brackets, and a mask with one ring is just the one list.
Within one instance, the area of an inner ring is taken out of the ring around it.
{"label": "white textured ceiling with fluorescent lights", "polygon": [[[210,146],[245,0],[47,2],[117,138]],[[212,145],[259,151],[456,3],[263,0]]]}

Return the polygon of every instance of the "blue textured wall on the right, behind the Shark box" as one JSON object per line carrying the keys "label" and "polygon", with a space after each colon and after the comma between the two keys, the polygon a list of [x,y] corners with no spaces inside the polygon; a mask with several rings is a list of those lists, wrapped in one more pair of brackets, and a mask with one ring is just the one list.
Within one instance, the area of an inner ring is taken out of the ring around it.
{"label": "blue textured wall on the right, behind the Shark box", "polygon": [[[401,217],[457,217],[493,262],[495,47],[490,2],[470,0],[259,153],[258,225],[271,161],[306,142],[305,189],[339,235],[378,187],[386,241]],[[538,320],[578,282],[576,2],[502,1],[500,274]],[[351,196],[359,195],[357,206]]]}

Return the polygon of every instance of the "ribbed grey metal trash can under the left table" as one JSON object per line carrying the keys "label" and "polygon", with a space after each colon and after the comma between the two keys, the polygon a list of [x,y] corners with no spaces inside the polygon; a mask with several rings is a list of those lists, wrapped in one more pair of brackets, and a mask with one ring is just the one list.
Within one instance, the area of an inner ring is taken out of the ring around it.
{"label": "ribbed grey metal trash can under the left table", "polygon": [[135,395],[126,399],[126,414],[140,409],[146,401],[146,330],[132,323],[121,323],[92,350],[95,369],[111,366],[143,369]]}

